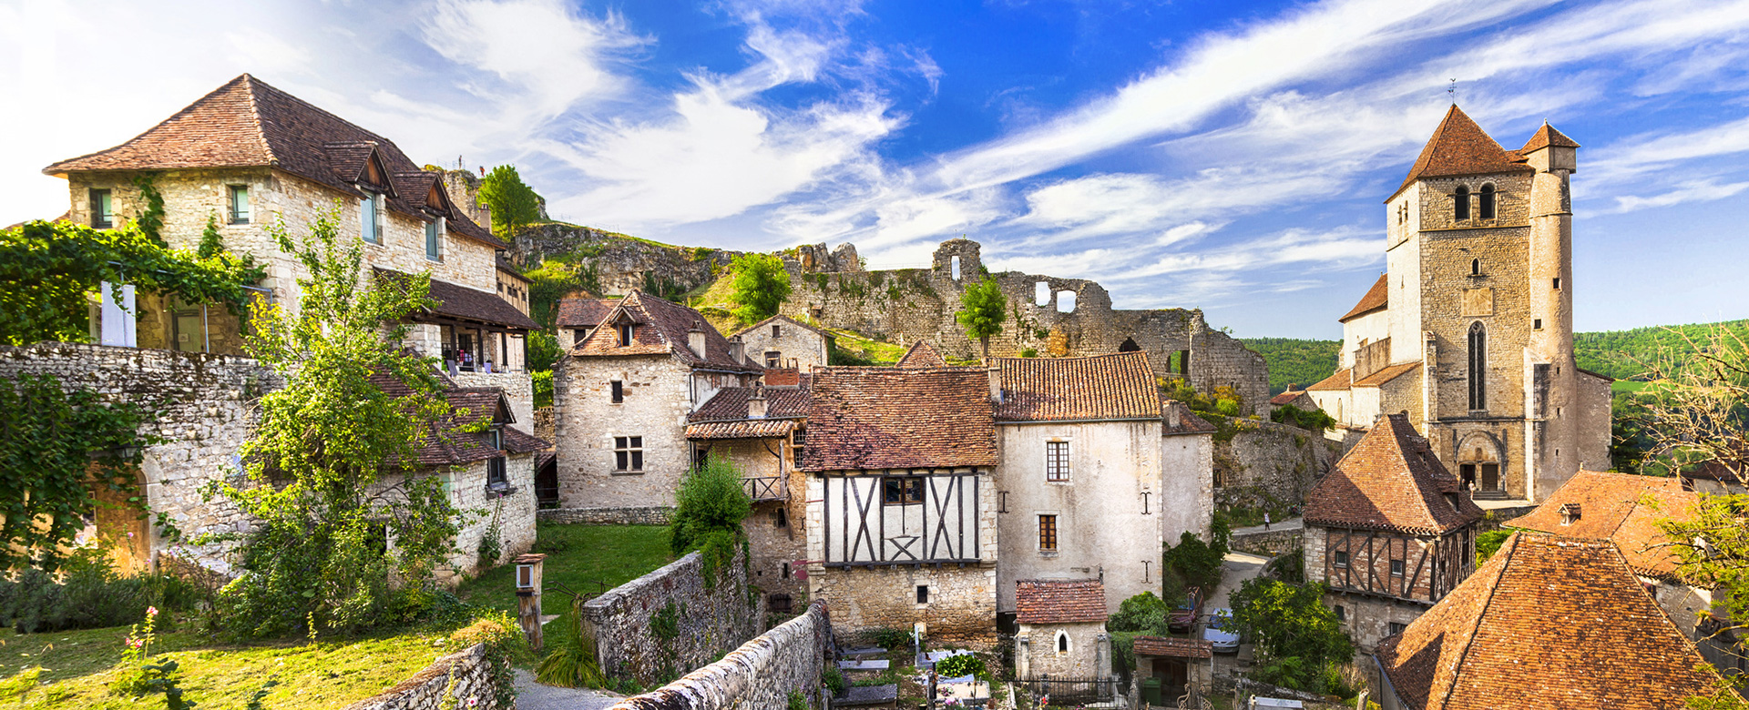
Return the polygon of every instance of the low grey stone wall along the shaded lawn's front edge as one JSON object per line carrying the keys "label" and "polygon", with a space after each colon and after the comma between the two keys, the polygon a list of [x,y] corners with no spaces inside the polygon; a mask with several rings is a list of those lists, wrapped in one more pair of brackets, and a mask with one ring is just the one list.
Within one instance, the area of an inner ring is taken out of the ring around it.
{"label": "low grey stone wall along the shaded lawn's front edge", "polygon": [[703,554],[691,553],[584,603],[602,672],[652,686],[757,635],[764,612],[747,586],[745,553],[719,568],[712,584],[705,574]]}

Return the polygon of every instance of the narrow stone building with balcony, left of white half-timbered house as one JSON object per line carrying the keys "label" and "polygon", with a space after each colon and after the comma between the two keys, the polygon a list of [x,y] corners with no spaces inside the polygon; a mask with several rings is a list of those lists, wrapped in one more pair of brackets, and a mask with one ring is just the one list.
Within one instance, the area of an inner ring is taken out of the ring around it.
{"label": "narrow stone building with balcony, left of white half-timbered house", "polygon": [[754,512],[742,525],[752,553],[752,584],[771,614],[806,607],[806,495],[801,472],[812,376],[768,369],[764,383],[726,386],[687,416],[686,439],[700,458],[724,458],[742,470]]}

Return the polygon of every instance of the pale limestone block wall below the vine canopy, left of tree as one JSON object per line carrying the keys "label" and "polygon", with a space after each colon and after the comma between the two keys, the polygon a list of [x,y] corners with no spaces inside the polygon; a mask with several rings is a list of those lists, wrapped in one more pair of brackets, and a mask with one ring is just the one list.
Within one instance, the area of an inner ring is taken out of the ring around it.
{"label": "pale limestone block wall below the vine canopy, left of tree", "polygon": [[[145,434],[164,439],[145,448],[140,472],[145,500],[168,512],[187,535],[236,532],[243,514],[222,500],[205,500],[213,479],[241,481],[238,448],[248,437],[250,402],[283,386],[271,369],[229,355],[178,353],[75,343],[0,346],[0,378],[51,374],[63,386],[96,390],[112,402],[136,402],[157,413]],[[170,542],[152,530],[150,551]],[[178,549],[185,560],[227,570],[217,546]]]}

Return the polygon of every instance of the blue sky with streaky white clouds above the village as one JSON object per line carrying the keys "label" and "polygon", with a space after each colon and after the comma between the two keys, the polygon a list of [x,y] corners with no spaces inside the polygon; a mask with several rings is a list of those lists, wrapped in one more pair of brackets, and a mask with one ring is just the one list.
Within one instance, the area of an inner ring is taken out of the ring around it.
{"label": "blue sky with streaky white clouds above the village", "polygon": [[[1095,278],[1119,308],[1336,338],[1457,100],[1574,177],[1581,331],[1749,317],[1749,0],[0,0],[0,224],[51,161],[250,72],[558,219],[743,250]],[[9,101],[10,103],[10,101]]]}

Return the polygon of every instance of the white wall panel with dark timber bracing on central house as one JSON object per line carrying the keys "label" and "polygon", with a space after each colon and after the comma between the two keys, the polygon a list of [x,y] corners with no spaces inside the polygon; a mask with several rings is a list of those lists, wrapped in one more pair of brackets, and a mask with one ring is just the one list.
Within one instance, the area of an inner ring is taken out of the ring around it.
{"label": "white wall panel with dark timber bracing on central house", "polygon": [[[824,483],[820,532],[826,542],[826,567],[965,567],[983,561],[978,505],[985,469],[836,470],[815,476]],[[922,500],[887,504],[881,493],[890,479],[922,481]],[[862,481],[871,483],[864,486]],[[887,523],[892,518],[888,507],[901,509],[897,514],[901,523],[906,523],[909,509],[916,507],[920,535],[909,535],[908,525],[895,535],[888,533]],[[834,514],[841,525],[834,525],[838,523]],[[836,537],[834,528],[840,530]],[[911,544],[918,547],[911,549]]]}

